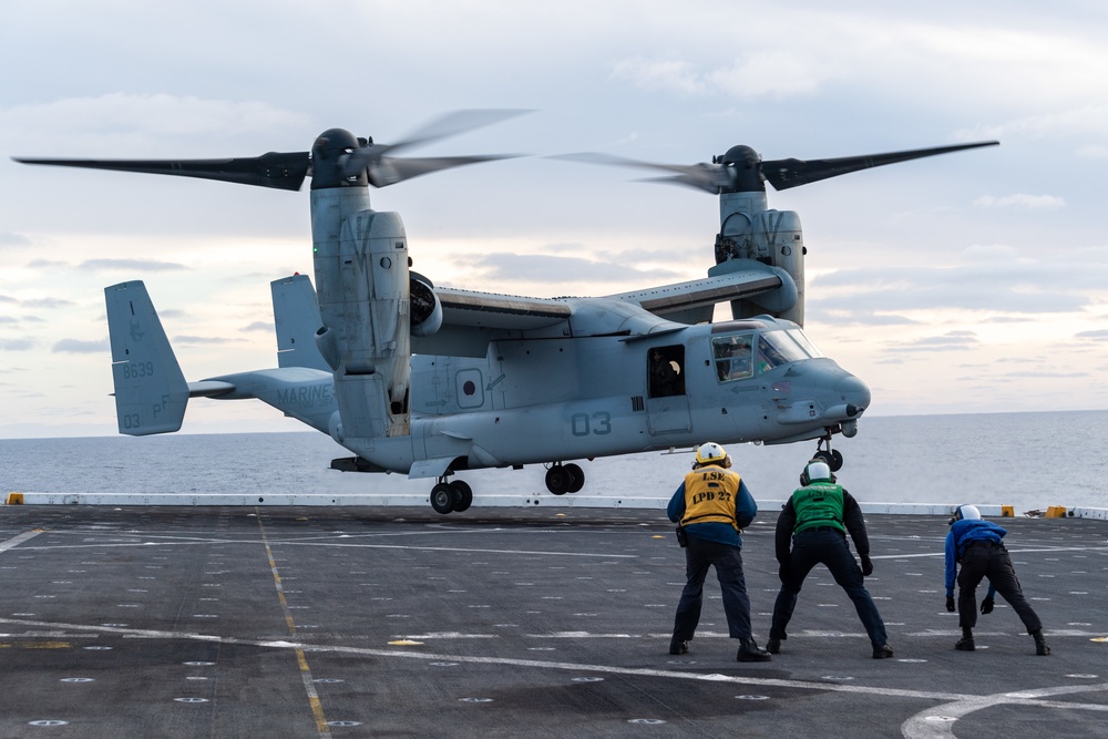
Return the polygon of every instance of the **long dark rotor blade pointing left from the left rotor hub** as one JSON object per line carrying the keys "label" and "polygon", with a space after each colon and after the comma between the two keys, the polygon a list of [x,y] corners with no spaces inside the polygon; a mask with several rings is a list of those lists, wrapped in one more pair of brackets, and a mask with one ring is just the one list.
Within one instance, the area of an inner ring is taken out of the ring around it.
{"label": "long dark rotor blade pointing left from the left rotor hub", "polygon": [[233,160],[60,160],[18,156],[12,158],[23,164],[199,177],[277,189],[299,189],[311,163],[308,152],[269,152],[261,156]]}

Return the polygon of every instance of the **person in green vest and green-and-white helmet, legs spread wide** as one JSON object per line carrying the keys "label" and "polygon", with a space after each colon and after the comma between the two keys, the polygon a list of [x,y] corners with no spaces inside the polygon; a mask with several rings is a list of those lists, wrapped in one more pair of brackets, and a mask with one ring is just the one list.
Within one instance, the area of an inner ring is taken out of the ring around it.
{"label": "person in green vest and green-and-white helmet, legs spread wide", "polygon": [[[800,474],[800,484],[801,487],[792,493],[777,519],[781,591],[773,604],[773,625],[766,648],[773,655],[781,650],[781,642],[788,638],[786,627],[797,607],[800,587],[812,567],[822,564],[854,603],[858,617],[870,636],[873,658],[892,657],[884,622],[863,581],[873,572],[873,563],[870,562],[870,540],[862,509],[842,485],[835,483],[831,468],[823,460],[815,459],[808,463]],[[854,547],[862,560],[861,568],[850,553],[847,532],[854,540]]]}

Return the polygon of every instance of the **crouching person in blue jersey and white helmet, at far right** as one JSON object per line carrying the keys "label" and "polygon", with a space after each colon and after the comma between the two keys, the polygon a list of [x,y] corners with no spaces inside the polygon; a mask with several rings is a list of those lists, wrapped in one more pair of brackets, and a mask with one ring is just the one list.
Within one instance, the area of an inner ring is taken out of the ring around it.
{"label": "crouching person in blue jersey and white helmet, at far right", "polygon": [[[1012,557],[1001,541],[1008,532],[981,517],[973,505],[960,505],[946,534],[946,609],[954,612],[954,581],[958,583],[958,626],[962,638],[954,644],[958,651],[973,651],[973,627],[977,625],[977,585],[988,578],[988,593],[981,602],[982,614],[993,612],[993,594],[999,593],[1024,622],[1035,638],[1035,654],[1046,656],[1050,647],[1043,638],[1043,622],[1027,603],[1012,566]],[[958,565],[962,572],[958,572]]]}

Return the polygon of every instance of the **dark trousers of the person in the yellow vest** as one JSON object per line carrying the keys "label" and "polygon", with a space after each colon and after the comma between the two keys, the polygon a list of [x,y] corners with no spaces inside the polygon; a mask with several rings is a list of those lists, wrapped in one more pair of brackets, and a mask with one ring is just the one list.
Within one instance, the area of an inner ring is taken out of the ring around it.
{"label": "dark trousers of the person in the yellow vest", "polygon": [[716,568],[719,588],[724,594],[724,613],[727,614],[727,630],[732,639],[749,639],[750,599],[747,598],[747,583],[742,576],[742,554],[739,547],[718,542],[709,542],[689,536],[685,547],[685,589],[677,604],[674,617],[674,639],[686,642],[693,638],[700,623],[700,606],[704,603],[704,578],[708,567]]}

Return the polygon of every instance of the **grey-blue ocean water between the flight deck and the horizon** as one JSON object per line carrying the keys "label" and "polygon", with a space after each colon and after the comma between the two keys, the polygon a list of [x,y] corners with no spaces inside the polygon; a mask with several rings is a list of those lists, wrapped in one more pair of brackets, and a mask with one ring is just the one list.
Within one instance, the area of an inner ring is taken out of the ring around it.
{"label": "grey-blue ocean water between the flight deck and the horizon", "polygon": [[[542,443],[536,433],[535,443]],[[1108,507],[1108,411],[865,418],[837,437],[839,481],[859,501]],[[783,500],[815,442],[735,444],[736,469],[758,500]],[[0,493],[427,493],[432,480],[329,470],[350,453],[316,432],[0,439]],[[668,500],[687,451],[578,461],[584,493]],[[475,470],[482,494],[545,492],[542,465]]]}

